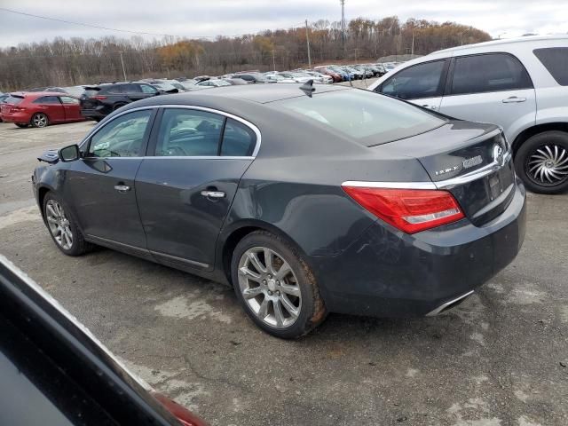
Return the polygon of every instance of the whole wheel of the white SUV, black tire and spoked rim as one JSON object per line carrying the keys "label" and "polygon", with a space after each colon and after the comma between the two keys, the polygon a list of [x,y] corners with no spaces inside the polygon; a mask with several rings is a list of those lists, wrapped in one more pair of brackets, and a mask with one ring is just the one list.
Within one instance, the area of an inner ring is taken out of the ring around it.
{"label": "whole wheel of the white SUV, black tire and spoked rim", "polygon": [[533,193],[568,189],[568,133],[543,131],[525,140],[515,156],[515,170]]}

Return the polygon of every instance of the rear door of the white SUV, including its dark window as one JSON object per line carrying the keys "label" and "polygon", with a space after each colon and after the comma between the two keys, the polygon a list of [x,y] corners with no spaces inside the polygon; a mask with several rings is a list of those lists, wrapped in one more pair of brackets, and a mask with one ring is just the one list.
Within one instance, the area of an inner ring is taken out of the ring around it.
{"label": "rear door of the white SUV, including its dark window", "polygon": [[[440,112],[463,120],[493,122],[505,136],[517,134],[515,122],[536,120],[531,77],[509,53],[484,53],[452,59]],[[511,140],[512,141],[512,140]]]}

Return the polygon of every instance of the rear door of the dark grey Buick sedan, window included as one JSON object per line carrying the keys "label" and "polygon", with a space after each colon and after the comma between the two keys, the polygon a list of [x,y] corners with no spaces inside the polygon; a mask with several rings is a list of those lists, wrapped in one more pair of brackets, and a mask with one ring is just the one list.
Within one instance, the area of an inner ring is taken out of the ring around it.
{"label": "rear door of the dark grey Buick sedan, window included", "polygon": [[259,133],[223,113],[163,108],[136,177],[147,248],[162,264],[211,270],[217,236]]}

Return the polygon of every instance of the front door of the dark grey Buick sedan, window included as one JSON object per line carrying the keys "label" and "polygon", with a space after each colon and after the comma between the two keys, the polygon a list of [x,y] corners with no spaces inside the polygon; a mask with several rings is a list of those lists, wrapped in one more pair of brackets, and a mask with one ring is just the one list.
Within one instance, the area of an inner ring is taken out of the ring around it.
{"label": "front door of the dark grey Buick sedan, window included", "polygon": [[91,240],[146,248],[134,179],[154,114],[154,109],[142,109],[106,122],[82,146],[83,157],[67,172],[65,198]]}

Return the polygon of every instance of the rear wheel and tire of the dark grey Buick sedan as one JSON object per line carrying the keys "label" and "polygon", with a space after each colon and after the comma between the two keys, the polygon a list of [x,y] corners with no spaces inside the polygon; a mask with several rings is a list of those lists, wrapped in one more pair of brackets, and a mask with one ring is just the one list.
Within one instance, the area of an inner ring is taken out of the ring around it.
{"label": "rear wheel and tire of the dark grey Buick sedan", "polygon": [[287,241],[249,233],[233,251],[233,286],[256,326],[276,337],[306,335],[327,315],[312,270]]}

